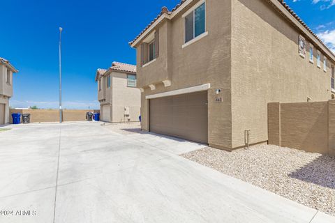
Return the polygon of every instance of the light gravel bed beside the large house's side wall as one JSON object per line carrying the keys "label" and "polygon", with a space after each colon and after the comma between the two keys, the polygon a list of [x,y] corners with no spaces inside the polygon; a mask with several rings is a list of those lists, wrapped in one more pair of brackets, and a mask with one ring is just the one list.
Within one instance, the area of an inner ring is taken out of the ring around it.
{"label": "light gravel bed beside the large house's side wall", "polygon": [[203,148],[182,156],[335,215],[335,158],[270,145],[233,152]]}

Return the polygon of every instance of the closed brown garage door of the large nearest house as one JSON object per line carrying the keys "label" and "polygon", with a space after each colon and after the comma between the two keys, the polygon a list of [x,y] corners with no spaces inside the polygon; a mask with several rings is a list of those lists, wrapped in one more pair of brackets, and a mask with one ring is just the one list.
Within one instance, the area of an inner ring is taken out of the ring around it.
{"label": "closed brown garage door of the large nearest house", "polygon": [[207,144],[207,91],[150,100],[150,131]]}

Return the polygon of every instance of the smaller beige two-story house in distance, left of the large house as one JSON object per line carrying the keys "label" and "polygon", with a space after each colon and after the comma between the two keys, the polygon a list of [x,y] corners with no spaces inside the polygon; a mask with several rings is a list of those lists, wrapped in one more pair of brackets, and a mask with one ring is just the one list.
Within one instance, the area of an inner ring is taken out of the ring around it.
{"label": "smaller beige two-story house in distance, left of the large house", "polygon": [[136,88],[136,66],[113,62],[108,70],[97,70],[96,82],[101,121],[139,121],[141,93]]}

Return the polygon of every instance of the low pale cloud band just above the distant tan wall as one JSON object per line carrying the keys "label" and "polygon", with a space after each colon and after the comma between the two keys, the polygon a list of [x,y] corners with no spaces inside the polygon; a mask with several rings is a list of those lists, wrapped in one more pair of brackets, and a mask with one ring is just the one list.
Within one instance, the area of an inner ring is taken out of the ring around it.
{"label": "low pale cloud band just above the distant tan wall", "polygon": [[[10,100],[11,107],[32,107],[36,105],[41,109],[58,109],[58,101],[19,101],[19,100]],[[62,102],[62,107],[64,109],[99,109],[100,105],[98,101],[64,101]]]}

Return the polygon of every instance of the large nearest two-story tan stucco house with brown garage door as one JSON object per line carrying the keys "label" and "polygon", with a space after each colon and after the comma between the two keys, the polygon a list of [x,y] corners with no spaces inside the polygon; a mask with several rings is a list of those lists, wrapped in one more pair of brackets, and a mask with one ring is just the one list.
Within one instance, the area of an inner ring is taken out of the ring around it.
{"label": "large nearest two-story tan stucco house with brown garage door", "polygon": [[334,54],[280,0],[181,1],[129,44],[142,130],[215,148],[267,142],[268,102],[334,91]]}

